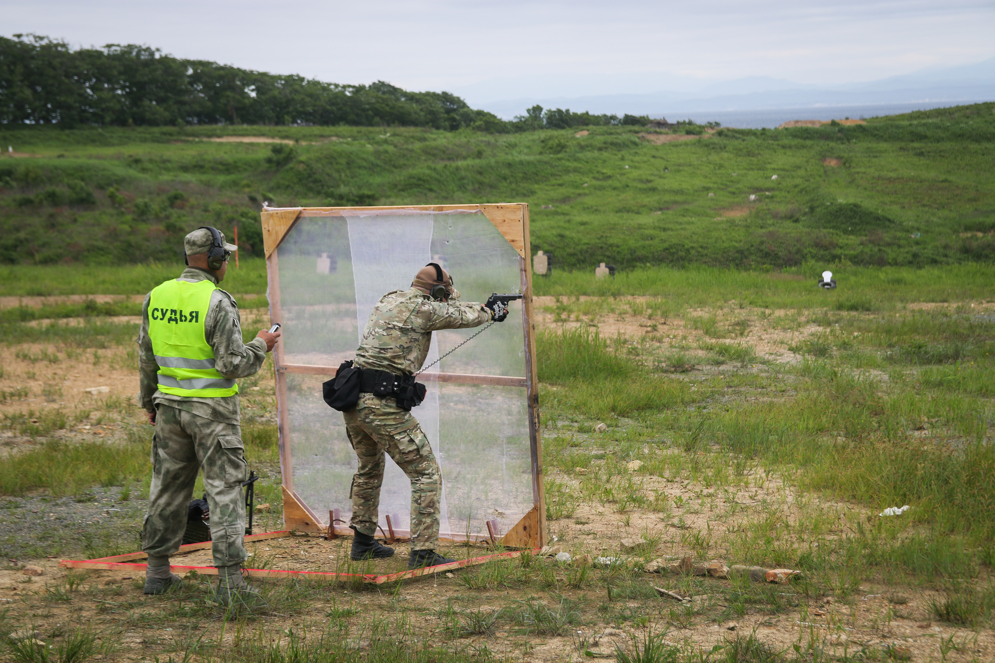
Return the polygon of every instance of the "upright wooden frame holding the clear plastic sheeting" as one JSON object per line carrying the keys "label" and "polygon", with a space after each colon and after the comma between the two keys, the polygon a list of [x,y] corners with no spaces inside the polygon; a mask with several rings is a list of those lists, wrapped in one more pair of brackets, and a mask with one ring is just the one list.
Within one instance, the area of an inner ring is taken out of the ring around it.
{"label": "upright wooden frame holding the clear plastic sheeting", "polygon": [[[272,322],[282,322],[280,301],[280,269],[278,251],[287,234],[306,217],[345,217],[373,216],[376,213],[405,214],[426,213],[483,213],[497,231],[519,256],[522,297],[522,329],[525,340],[525,376],[522,378],[503,376],[480,376],[464,374],[423,374],[424,380],[438,382],[501,385],[524,387],[528,406],[528,435],[531,454],[533,506],[525,516],[500,539],[500,544],[508,548],[538,549],[546,544],[546,507],[543,487],[542,439],[539,425],[538,371],[535,362],[535,324],[532,309],[532,264],[531,246],[528,232],[527,203],[497,203],[480,205],[420,205],[384,207],[320,207],[320,208],[266,208],[262,213],[264,248],[267,258],[267,273],[270,283],[270,318]],[[350,214],[352,213],[352,214]],[[274,352],[277,381],[277,409],[280,431],[280,460],[284,488],[284,523],[289,529],[301,532],[322,532],[349,536],[352,530],[335,523],[324,523],[301,500],[294,491],[293,458],[289,439],[290,421],[287,412],[286,374],[309,374],[333,377],[337,367],[289,364],[285,361],[283,344],[278,343]],[[394,530],[396,534],[407,534]],[[475,541],[488,541],[488,535],[474,535]],[[465,541],[457,538],[453,541]]]}

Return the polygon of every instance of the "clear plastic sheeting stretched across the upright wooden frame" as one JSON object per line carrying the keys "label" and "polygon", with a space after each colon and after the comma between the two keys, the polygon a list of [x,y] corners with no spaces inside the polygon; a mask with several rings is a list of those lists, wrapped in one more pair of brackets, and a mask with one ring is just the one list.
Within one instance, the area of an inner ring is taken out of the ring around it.
{"label": "clear plastic sheeting stretched across the upright wooden frame", "polygon": [[[328,376],[304,367],[352,359],[373,305],[391,290],[408,289],[430,261],[452,273],[463,301],[480,302],[492,292],[521,292],[522,261],[480,212],[302,216],[276,256],[271,269],[278,270],[279,293],[271,292],[271,300],[279,301],[287,368],[279,378],[287,394],[284,482],[318,518],[339,509],[347,522],[355,454],[342,414],[321,400]],[[535,504],[525,388],[439,382],[431,375],[524,379],[520,311],[521,303],[513,303],[506,321],[444,358],[422,381],[428,394],[412,414],[442,469],[444,538],[487,537],[489,520],[507,532]],[[426,365],[480,330],[435,332]],[[410,483],[393,461],[386,466],[380,525],[386,531],[390,515],[395,533],[407,534]]]}

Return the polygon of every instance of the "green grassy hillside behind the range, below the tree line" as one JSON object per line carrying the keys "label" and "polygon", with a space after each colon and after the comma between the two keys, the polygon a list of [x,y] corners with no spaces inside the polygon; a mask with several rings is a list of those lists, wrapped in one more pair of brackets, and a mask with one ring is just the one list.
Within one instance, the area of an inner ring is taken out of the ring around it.
{"label": "green grassy hillside behind the range, below the tree line", "polygon": [[[532,247],[596,262],[741,268],[990,261],[995,103],[783,130],[513,135],[417,128],[33,127],[0,131],[0,261],[176,259],[189,230],[259,203],[524,201]],[[686,133],[691,132],[691,133]],[[215,142],[268,136],[285,143]],[[292,141],[292,142],[290,142]],[[777,176],[776,179],[772,179]],[[750,197],[753,200],[750,200]]]}

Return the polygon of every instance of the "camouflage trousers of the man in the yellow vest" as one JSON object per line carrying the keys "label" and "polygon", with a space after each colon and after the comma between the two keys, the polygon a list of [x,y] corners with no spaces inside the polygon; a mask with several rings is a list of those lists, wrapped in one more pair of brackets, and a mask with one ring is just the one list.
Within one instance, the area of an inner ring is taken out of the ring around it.
{"label": "camouflage trousers of the man in the yellow vest", "polygon": [[247,468],[241,428],[160,404],[152,440],[152,485],[148,492],[142,551],[149,558],[176,553],[186,530],[197,471],[211,510],[214,566],[246,560],[245,496]]}

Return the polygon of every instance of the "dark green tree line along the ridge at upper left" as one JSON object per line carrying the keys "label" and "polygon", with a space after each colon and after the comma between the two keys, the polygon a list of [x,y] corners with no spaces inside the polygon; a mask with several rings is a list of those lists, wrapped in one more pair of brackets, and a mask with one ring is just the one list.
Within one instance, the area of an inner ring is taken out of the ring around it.
{"label": "dark green tree line along the ridge at upper left", "polygon": [[133,44],[73,50],[39,35],[0,37],[0,124],[7,125],[347,124],[508,132],[648,120],[534,106],[508,122],[450,92],[412,92],[382,81],[325,83],[182,60]]}

